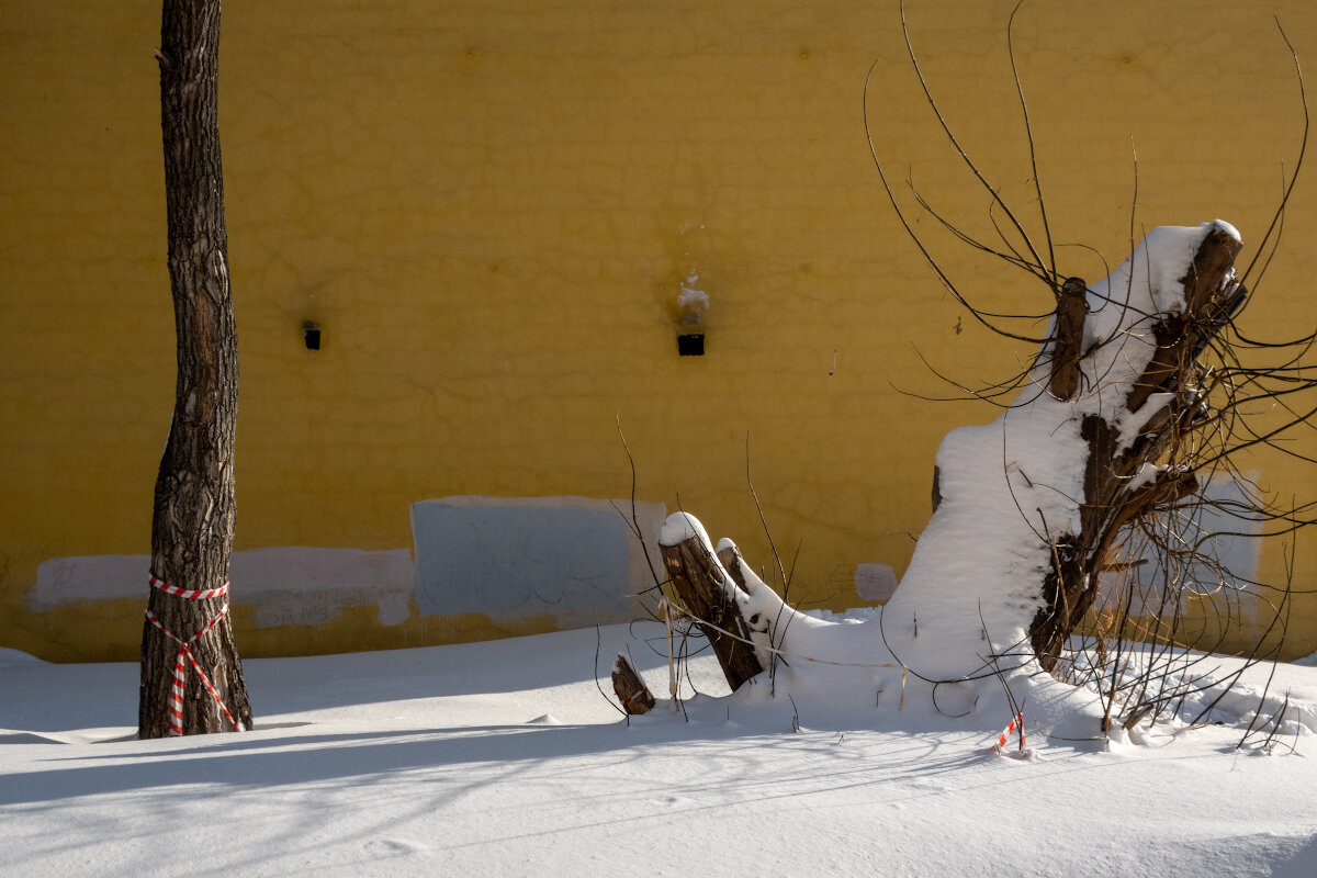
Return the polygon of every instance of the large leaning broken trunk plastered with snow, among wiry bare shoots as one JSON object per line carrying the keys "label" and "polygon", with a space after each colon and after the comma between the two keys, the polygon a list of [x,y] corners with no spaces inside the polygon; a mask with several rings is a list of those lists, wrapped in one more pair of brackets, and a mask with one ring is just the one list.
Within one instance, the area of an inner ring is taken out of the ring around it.
{"label": "large leaning broken trunk plastered with snow, among wiry bare shoots", "polygon": [[1175,452],[1204,412],[1196,357],[1245,297],[1241,246],[1221,221],[1163,226],[1112,276],[1058,290],[1019,398],[938,452],[936,511],[885,611],[900,661],[932,679],[1056,669],[1118,532],[1198,488]]}

